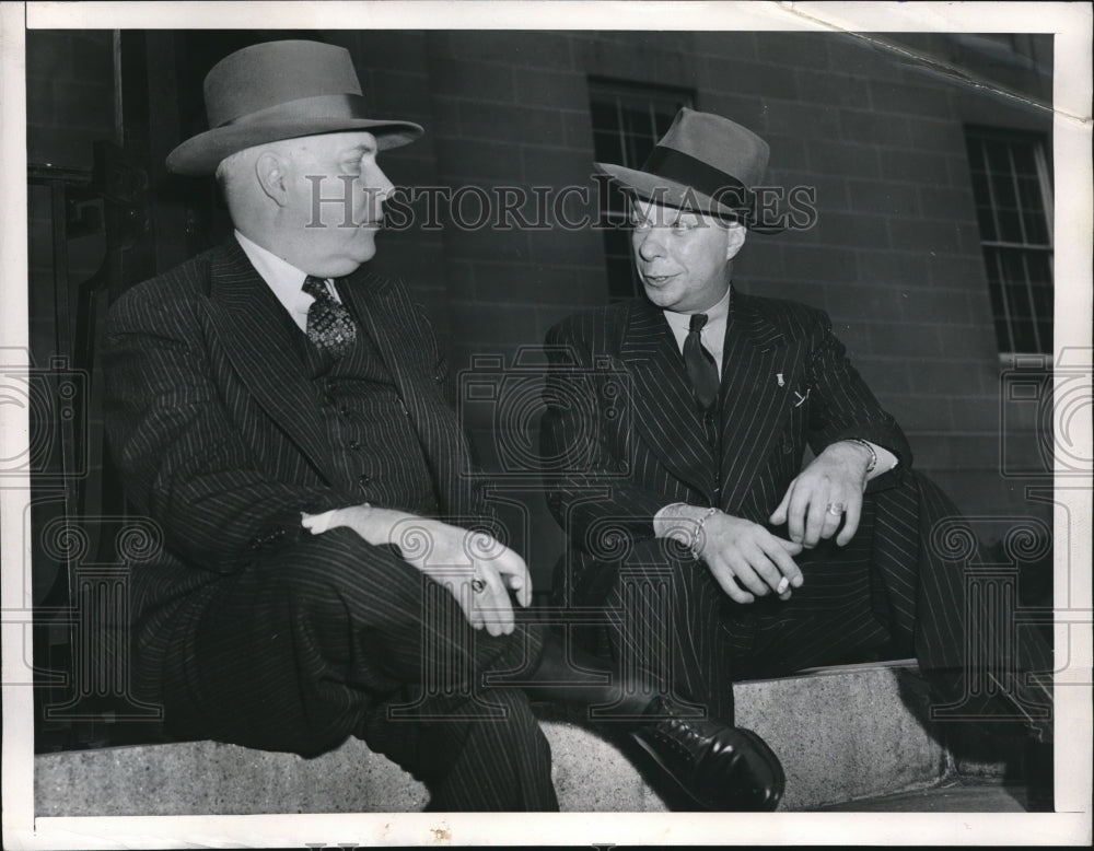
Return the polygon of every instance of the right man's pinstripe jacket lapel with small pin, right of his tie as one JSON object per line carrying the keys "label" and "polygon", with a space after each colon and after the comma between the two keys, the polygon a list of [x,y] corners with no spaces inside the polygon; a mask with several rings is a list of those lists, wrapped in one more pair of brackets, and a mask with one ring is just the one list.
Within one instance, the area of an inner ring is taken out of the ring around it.
{"label": "right man's pinstripe jacket lapel with small pin, right of his tie", "polygon": [[721,385],[722,504],[730,513],[755,487],[781,435],[781,422],[793,409],[801,361],[801,343],[788,343],[759,303],[734,290]]}

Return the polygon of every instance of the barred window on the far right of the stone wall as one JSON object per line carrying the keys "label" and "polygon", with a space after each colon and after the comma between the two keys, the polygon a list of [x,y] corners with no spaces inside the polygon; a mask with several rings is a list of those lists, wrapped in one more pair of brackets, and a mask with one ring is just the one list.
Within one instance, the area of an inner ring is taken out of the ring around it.
{"label": "barred window on the far right of the stone wall", "polygon": [[1052,352],[1052,190],[1039,136],[966,130],[999,351]]}

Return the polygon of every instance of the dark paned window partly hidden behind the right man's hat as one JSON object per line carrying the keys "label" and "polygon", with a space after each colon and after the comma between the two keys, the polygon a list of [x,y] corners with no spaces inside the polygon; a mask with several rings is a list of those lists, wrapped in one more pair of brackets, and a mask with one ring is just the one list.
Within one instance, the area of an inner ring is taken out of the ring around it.
{"label": "dark paned window partly hidden behind the right man's hat", "polygon": [[[664,86],[633,85],[606,80],[589,81],[596,162],[639,168],[657,139],[665,135],[676,113],[691,105],[689,92]],[[615,180],[601,196],[604,256],[608,270],[608,298],[629,299],[640,291],[630,258],[627,199]]]}

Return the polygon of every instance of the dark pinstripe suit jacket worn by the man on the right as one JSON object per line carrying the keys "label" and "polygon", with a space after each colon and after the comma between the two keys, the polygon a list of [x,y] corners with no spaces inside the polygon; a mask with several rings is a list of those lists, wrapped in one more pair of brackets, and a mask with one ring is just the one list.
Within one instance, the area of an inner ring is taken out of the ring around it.
{"label": "dark pinstripe suit jacket worn by the man on the right", "polygon": [[668,323],[645,299],[570,316],[547,348],[547,500],[579,569],[608,529],[652,536],[672,502],[766,524],[806,446],[861,438],[911,461],[828,316],[803,304],[734,290],[717,457]]}

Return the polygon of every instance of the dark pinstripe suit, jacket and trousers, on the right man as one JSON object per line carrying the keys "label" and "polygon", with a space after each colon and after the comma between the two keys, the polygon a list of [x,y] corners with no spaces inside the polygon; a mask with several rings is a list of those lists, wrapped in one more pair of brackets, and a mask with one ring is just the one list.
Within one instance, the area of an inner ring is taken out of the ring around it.
{"label": "dark pinstripe suit, jacket and trousers, on the right man", "polygon": [[[947,691],[964,688],[964,564],[928,544],[956,509],[910,469],[907,440],[824,313],[734,291],[710,415],[645,299],[571,316],[547,348],[545,477],[570,541],[556,592],[613,613],[627,664],[657,668],[677,697],[725,720],[735,679],[878,653],[915,653]],[[805,583],[789,602],[735,604],[703,566],[653,538],[654,514],[677,501],[769,525],[806,448],[847,438],[899,464],[870,483],[847,547],[822,541],[798,557]]]}

